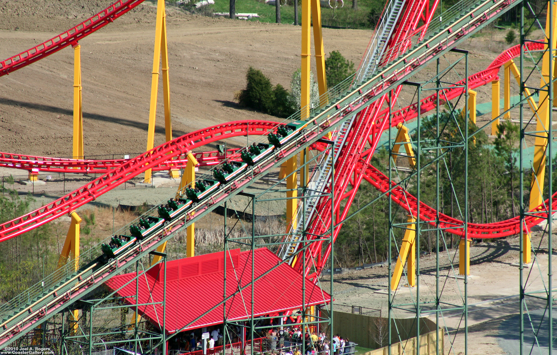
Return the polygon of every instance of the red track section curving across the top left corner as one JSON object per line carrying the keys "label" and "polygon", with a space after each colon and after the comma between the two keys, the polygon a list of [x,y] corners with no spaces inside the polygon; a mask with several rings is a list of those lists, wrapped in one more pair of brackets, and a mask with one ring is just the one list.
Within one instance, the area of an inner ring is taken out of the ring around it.
{"label": "red track section curving across the top left corner", "polygon": [[144,0],[119,0],[109,7],[105,8],[101,12],[97,13],[95,16],[90,17],[79,25],[70,28],[65,32],[60,33],[60,35],[51,38],[46,42],[42,42],[40,45],[35,46],[21,52],[18,55],[9,57],[6,60],[0,62],[0,76],[8,75],[10,72],[21,69],[24,66],[30,65],[37,60],[41,60],[57,51],[65,48],[69,45],[77,43],[91,33],[100,30],[102,27],[114,22],[116,18],[119,18],[126,12],[130,11],[134,7],[138,6]]}

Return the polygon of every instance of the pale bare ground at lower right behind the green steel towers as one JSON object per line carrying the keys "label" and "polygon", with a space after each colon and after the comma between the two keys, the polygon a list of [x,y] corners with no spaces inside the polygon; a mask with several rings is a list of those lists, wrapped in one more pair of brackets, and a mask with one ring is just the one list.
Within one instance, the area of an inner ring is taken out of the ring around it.
{"label": "pale bare ground at lower right behind the green steel towers", "polygon": [[[538,258],[531,269],[525,269],[525,290],[531,292],[544,289],[544,279],[548,274],[547,234],[534,232],[532,246],[538,250]],[[538,249],[539,248],[539,249]],[[456,250],[439,253],[439,294],[443,308],[452,305],[462,305],[465,297],[463,280],[455,279],[458,275],[458,252]],[[468,350],[471,355],[505,354],[500,341],[504,341],[508,334],[513,339],[518,339],[514,329],[500,328],[501,322],[510,318],[512,314],[519,313],[519,268],[512,265],[519,261],[519,238],[509,237],[501,240],[486,240],[472,245],[470,248],[472,278],[468,282]],[[534,254],[532,253],[532,257]],[[553,262],[555,262],[555,255]],[[436,297],[436,255],[430,254],[420,258],[420,294],[419,299],[425,303],[434,303]],[[394,263],[392,264],[394,268]],[[330,288],[330,277],[325,275],[321,287]],[[555,276],[553,280],[556,281]],[[405,276],[402,276],[399,286],[407,285]],[[359,305],[381,309],[382,314],[388,314],[388,295],[376,293],[378,290],[388,288],[388,268],[374,267],[354,271],[346,274],[334,275],[335,300],[339,304]],[[400,287],[393,293],[393,305],[414,304],[416,302],[416,289]],[[541,300],[527,299],[527,308],[530,311],[544,308]],[[404,308],[404,307],[403,307]],[[406,307],[408,308],[408,307]],[[410,307],[412,308],[412,307]],[[433,307],[431,307],[433,308]],[[423,317],[435,321],[435,313],[427,313],[431,309],[423,305]],[[342,310],[342,309],[340,309]],[[395,318],[415,317],[415,313],[405,312],[401,309],[393,310]],[[464,353],[462,310],[449,310],[439,314],[439,325],[449,332],[445,338],[445,353],[448,353],[451,343],[451,354]],[[536,323],[538,324],[538,323]],[[458,331],[457,331],[458,329]],[[504,335],[505,334],[505,335]],[[537,351],[537,350],[536,350]]]}

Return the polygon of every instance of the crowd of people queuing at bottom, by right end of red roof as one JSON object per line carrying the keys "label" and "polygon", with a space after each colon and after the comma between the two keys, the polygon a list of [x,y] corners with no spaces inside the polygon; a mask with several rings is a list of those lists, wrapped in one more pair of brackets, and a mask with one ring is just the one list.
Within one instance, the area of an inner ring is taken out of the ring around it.
{"label": "crowd of people queuing at bottom, by right end of red roof", "polygon": [[329,340],[325,332],[307,330],[302,336],[300,328],[270,329],[264,339],[265,350],[272,355],[302,355],[302,350],[305,355],[352,355],[356,351],[356,344],[339,334]]}

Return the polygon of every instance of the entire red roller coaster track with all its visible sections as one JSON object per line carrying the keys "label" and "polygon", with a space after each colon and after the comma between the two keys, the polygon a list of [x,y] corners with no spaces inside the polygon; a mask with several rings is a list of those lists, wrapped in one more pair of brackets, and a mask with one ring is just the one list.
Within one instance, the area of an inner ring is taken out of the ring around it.
{"label": "entire red roller coaster track with all its visible sections", "polygon": [[[7,60],[0,62],[0,76],[9,74],[14,70],[21,69],[26,65],[42,59],[64,47],[75,43],[90,33],[99,30],[116,18],[122,16],[130,9],[138,6],[143,0],[118,1],[106,8],[104,11],[91,17],[89,20],[82,22],[80,25],[49,41],[41,43],[21,54],[13,56]],[[426,32],[428,23],[431,21],[433,13],[438,2],[435,1],[431,8],[427,0],[413,0],[409,2],[409,6],[405,8],[403,16],[400,17],[397,27],[389,42],[389,56],[397,56],[404,52],[412,45],[411,39],[416,33],[421,32],[418,36],[423,37]],[[418,27],[418,23],[423,21],[424,25]],[[528,42],[527,50],[539,50],[543,44],[538,42]],[[497,79],[497,72],[502,64],[509,59],[519,55],[520,48],[512,47],[501,54],[486,69],[469,77],[469,87],[477,87],[485,85],[487,82]],[[458,82],[456,85],[461,85]],[[443,90],[442,100],[448,101],[456,98],[462,93],[462,87],[454,87],[452,89]],[[386,192],[389,189],[388,178],[380,173],[377,169],[370,165],[370,159],[373,156],[375,147],[377,146],[380,134],[388,129],[387,113],[388,109],[382,109],[387,103],[393,106],[396,100],[400,86],[393,91],[393,101],[388,102],[387,96],[383,96],[367,109],[356,115],[354,124],[349,133],[346,144],[339,152],[339,160],[335,166],[335,191],[343,192],[339,198],[335,199],[334,214],[335,220],[343,220],[350,208],[358,186],[362,179],[366,179],[379,191]],[[436,95],[429,96],[421,100],[420,110],[422,113],[435,107]],[[408,121],[417,116],[418,104],[413,104],[399,111],[395,111],[392,116],[392,125],[399,122]],[[185,163],[184,154],[192,149],[201,147],[204,144],[215,142],[216,140],[236,137],[246,134],[267,134],[276,126],[277,123],[270,121],[236,121],[223,125],[216,125],[207,129],[198,130],[196,132],[184,135],[183,137],[171,140],[159,147],[139,155],[129,161],[123,159],[113,159],[106,161],[76,161],[74,159],[56,159],[46,157],[30,157],[10,153],[0,153],[0,166],[15,167],[30,170],[38,168],[41,171],[50,172],[81,172],[81,173],[104,173],[101,177],[95,179],[76,191],[41,207],[40,209],[27,213],[16,220],[12,220],[0,225],[0,241],[4,241],[21,235],[40,225],[52,221],[75,208],[85,205],[95,200],[100,194],[109,191],[111,188],[118,186],[124,181],[133,178],[144,172],[147,168],[153,167],[155,170],[168,170],[172,167],[182,167]],[[371,148],[365,148],[366,144],[370,144]],[[235,150],[231,154],[235,155]],[[200,165],[212,165],[218,163],[222,159],[222,155],[217,152],[195,153]],[[416,215],[416,207],[418,201],[404,189],[397,187],[393,189],[389,196],[393,201],[397,202],[405,210]],[[343,201],[343,203],[341,203]],[[310,232],[313,235],[326,234],[328,224],[331,222],[330,215],[330,199],[323,197],[318,206],[320,221],[314,220],[311,225]],[[343,207],[341,208],[341,205]],[[557,206],[557,202],[555,203]],[[420,218],[423,221],[431,222],[434,220],[437,212],[421,203]],[[555,206],[554,206],[555,207]],[[544,217],[544,205],[536,208],[539,211],[538,217],[529,216],[526,218],[527,228],[539,222]],[[493,238],[517,234],[521,231],[519,226],[519,218],[511,218],[507,221],[487,224],[469,223],[469,234],[477,238]],[[463,234],[463,222],[455,218],[441,215],[442,227],[447,231],[457,235]],[[335,237],[338,235],[340,225],[335,229]],[[330,246],[324,254],[321,254],[321,245],[314,243],[307,252],[306,257],[318,262],[318,272],[323,268],[323,264],[330,252]],[[301,259],[299,259],[301,260]],[[301,264],[301,261],[300,261]],[[307,263],[306,265],[310,265]],[[306,270],[307,273],[307,270]]]}

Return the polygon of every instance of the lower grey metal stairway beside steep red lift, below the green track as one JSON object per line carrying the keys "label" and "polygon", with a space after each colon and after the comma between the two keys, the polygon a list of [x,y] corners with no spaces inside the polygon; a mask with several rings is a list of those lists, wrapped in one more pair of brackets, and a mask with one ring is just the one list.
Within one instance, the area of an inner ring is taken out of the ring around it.
{"label": "lower grey metal stairway beside steep red lift, below the green track", "polygon": [[[311,189],[307,190],[307,195],[309,197],[306,199],[306,208],[302,205],[299,206],[298,211],[296,212],[297,215],[297,226],[296,226],[296,233],[290,234],[287,236],[288,244],[284,244],[282,249],[279,252],[279,256],[282,260],[288,259],[291,257],[299,245],[298,241],[301,239],[303,232],[306,230],[309,222],[311,220],[312,215],[315,212],[315,207],[317,205],[317,201],[319,201],[319,194],[323,193],[325,190],[326,184],[330,180],[331,171],[333,171],[334,163],[336,159],[338,159],[338,153],[340,149],[343,147],[344,143],[346,142],[346,137],[348,136],[348,132],[352,123],[354,121],[354,116],[350,116],[349,119],[344,121],[341,124],[338,131],[336,131],[335,140],[334,140],[334,161],[331,164],[331,154],[326,154],[318,164],[318,172],[314,174],[311,181],[308,183],[308,186]],[[305,215],[305,223],[304,219],[302,218],[302,213]],[[291,264],[292,260],[289,260],[289,264]]]}

